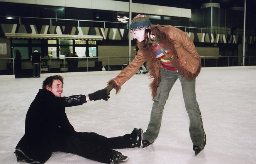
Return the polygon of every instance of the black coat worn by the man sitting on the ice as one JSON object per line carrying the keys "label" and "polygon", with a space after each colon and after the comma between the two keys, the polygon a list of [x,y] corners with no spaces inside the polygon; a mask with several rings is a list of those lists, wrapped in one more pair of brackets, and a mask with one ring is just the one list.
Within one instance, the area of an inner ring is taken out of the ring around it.
{"label": "black coat worn by the man sitting on the ice", "polygon": [[63,134],[75,134],[70,124],[65,107],[82,105],[86,102],[85,95],[55,97],[46,89],[40,89],[27,111],[25,134],[16,149],[21,149],[31,159],[44,163],[51,157],[51,139],[56,131]]}

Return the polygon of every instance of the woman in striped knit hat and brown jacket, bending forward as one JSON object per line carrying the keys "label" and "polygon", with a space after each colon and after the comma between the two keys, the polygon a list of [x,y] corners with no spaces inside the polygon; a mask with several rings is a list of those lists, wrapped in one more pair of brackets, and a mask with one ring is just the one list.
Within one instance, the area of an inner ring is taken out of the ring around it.
{"label": "woman in striped knit hat and brown jacket, bending forward", "polygon": [[[149,76],[153,79],[153,106],[147,131],[143,134],[142,147],[147,147],[158,137],[166,100],[176,80],[180,80],[185,108],[190,120],[189,133],[193,142],[195,155],[206,144],[202,115],[196,99],[195,78],[201,70],[201,59],[192,40],[178,28],[171,25],[160,27],[151,25],[146,15],[137,15],[132,20],[130,32],[137,40],[139,50],[135,59],[108,82],[107,93],[113,88],[116,93],[121,89],[146,61]],[[168,109],[175,109],[168,106]]]}

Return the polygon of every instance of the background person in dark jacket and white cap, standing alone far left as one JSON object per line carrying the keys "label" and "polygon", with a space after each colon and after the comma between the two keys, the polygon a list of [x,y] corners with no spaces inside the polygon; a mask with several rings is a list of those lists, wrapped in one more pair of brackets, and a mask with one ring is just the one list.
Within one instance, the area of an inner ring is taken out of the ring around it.
{"label": "background person in dark jacket and white cap, standing alone far left", "polygon": [[33,65],[33,77],[40,77],[41,56],[37,49],[34,49],[32,55],[30,57],[30,60]]}

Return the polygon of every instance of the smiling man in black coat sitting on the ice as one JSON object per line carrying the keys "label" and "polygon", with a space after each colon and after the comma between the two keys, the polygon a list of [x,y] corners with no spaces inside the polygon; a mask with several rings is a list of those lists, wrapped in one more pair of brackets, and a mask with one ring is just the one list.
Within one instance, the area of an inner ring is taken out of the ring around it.
{"label": "smiling man in black coat sitting on the ice", "polygon": [[[105,100],[107,90],[88,95],[62,97],[63,77],[47,77],[31,103],[25,119],[25,134],[15,147],[17,161],[44,163],[52,152],[67,152],[98,162],[114,164],[125,162],[127,156],[111,148],[140,147],[142,129],[131,134],[107,138],[94,132],[76,132],[66,115],[66,107],[82,105],[88,101]],[[92,118],[93,119],[93,118]]]}

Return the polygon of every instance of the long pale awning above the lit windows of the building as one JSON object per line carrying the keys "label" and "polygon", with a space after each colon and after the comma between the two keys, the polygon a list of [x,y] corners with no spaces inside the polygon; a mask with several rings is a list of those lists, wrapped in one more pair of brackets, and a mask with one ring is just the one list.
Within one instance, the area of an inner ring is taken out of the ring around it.
{"label": "long pale awning above the lit windows of the building", "polygon": [[65,34],[39,34],[39,33],[5,33],[7,38],[41,38],[41,39],[76,39],[76,40],[102,40],[101,35],[65,35]]}

